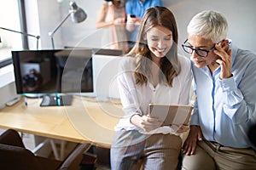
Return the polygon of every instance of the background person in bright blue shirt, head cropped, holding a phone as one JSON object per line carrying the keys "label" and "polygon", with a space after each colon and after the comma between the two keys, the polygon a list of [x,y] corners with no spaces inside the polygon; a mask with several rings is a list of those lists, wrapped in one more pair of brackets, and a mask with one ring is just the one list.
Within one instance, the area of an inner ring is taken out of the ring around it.
{"label": "background person in bright blue shirt, head cropped, holding a phone", "polygon": [[161,0],[128,0],[125,3],[127,15],[126,30],[129,32],[129,47],[132,48],[137,40],[138,27],[147,8],[163,6]]}

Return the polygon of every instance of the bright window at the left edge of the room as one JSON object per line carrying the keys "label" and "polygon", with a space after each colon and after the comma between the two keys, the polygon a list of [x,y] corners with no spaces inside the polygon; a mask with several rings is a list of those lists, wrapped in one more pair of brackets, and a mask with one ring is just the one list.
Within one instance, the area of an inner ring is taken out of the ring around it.
{"label": "bright window at the left edge of the room", "polygon": [[0,3],[0,88],[15,81],[11,50],[23,48],[20,33],[3,29],[20,31],[20,2],[9,0]]}

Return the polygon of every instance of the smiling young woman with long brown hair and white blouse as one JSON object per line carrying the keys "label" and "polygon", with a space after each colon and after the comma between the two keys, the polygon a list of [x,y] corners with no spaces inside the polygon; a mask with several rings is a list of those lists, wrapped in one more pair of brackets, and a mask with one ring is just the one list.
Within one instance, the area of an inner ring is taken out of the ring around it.
{"label": "smiling young woman with long brown hair and white blouse", "polygon": [[137,42],[127,55],[118,77],[125,116],[115,127],[111,168],[176,169],[179,134],[188,126],[161,126],[148,116],[150,103],[189,104],[190,61],[177,55],[177,25],[168,8],[145,11]]}

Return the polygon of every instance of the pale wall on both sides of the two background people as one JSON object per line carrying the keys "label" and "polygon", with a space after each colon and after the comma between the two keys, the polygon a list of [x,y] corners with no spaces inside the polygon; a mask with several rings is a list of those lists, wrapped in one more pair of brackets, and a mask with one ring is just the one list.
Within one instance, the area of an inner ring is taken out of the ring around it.
{"label": "pale wall on both sides of the two background people", "polygon": [[[33,1],[33,0],[26,0]],[[229,24],[229,38],[240,48],[246,48],[256,53],[254,46],[254,32],[256,30],[256,1],[255,0],[162,0],[164,6],[175,14],[179,31],[179,44],[186,36],[186,26],[189,20],[204,9],[214,9],[223,13]],[[48,32],[52,31],[68,14],[68,0],[38,0],[40,16],[40,33],[42,48],[51,48]],[[55,47],[82,46],[100,47],[102,31],[96,31],[96,15],[103,0],[76,0],[80,7],[88,14],[87,20],[73,24],[69,19],[60,30],[55,33]]]}

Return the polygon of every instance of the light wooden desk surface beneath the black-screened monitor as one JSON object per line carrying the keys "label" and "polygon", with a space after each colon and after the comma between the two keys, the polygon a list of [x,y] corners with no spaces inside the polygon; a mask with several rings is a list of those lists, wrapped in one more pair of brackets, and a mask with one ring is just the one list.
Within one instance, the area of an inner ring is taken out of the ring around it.
{"label": "light wooden desk surface beneath the black-screened monitor", "polygon": [[40,107],[42,99],[23,100],[0,110],[0,128],[14,128],[47,138],[110,147],[113,127],[123,116],[119,101],[73,97],[73,105]]}

